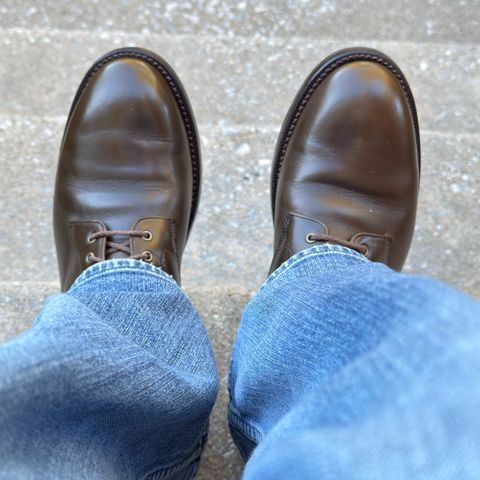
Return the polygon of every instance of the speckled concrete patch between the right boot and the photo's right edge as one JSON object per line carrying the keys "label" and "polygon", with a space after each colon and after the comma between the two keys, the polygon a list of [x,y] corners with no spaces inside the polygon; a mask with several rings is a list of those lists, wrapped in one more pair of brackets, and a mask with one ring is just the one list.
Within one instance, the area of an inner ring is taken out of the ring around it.
{"label": "speckled concrete patch between the right boot and the photo's right edge", "polygon": [[480,137],[423,136],[415,237],[406,272],[480,298]]}

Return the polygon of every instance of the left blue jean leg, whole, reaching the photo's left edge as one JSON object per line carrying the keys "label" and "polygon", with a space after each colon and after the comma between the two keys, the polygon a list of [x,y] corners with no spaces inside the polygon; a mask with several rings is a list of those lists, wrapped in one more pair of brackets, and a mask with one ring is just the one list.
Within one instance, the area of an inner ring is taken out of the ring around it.
{"label": "left blue jean leg, whole, reaching the photo's left edge", "polygon": [[0,365],[0,478],[195,474],[215,361],[201,319],[160,269],[94,265],[0,348]]}

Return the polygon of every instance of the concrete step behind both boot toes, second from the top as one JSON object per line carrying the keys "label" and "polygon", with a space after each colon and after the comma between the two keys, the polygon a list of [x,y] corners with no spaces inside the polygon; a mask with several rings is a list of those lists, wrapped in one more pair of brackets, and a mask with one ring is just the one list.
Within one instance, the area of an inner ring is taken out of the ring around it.
{"label": "concrete step behind both boot toes, second from the top", "polygon": [[[459,9],[460,10],[460,9]],[[311,69],[358,40],[0,30],[0,114],[64,116],[91,63],[119,46],[146,46],[173,64],[201,124],[280,126]],[[360,37],[362,38],[362,37]],[[404,70],[427,130],[476,133],[480,46],[368,41]]]}

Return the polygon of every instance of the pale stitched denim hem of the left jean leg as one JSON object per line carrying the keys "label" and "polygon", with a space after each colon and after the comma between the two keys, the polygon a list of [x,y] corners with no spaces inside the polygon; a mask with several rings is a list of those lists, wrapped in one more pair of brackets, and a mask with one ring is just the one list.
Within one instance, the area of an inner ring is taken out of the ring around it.
{"label": "pale stitched denim hem of the left jean leg", "polygon": [[117,258],[95,263],[84,270],[75,280],[68,292],[76,293],[87,285],[90,285],[92,282],[102,283],[102,281],[105,281],[105,283],[110,284],[113,280],[112,277],[118,277],[119,281],[122,283],[128,278],[128,283],[130,285],[132,285],[132,277],[135,277],[135,283],[139,287],[142,285],[144,286],[144,284],[148,282],[158,283],[158,281],[161,283],[167,282],[178,287],[175,279],[159,267],[155,267],[154,265],[141,260]]}

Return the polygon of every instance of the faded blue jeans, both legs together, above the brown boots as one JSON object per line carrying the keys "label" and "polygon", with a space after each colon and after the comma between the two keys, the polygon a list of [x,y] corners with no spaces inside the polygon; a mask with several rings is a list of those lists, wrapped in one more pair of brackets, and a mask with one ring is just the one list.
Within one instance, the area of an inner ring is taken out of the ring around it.
{"label": "faded blue jeans, both legs together, above the brown boots", "polygon": [[[134,260],[84,272],[0,349],[0,478],[192,478],[218,388],[201,320]],[[480,478],[480,306],[338,246],[245,310],[229,422],[251,479]]]}

